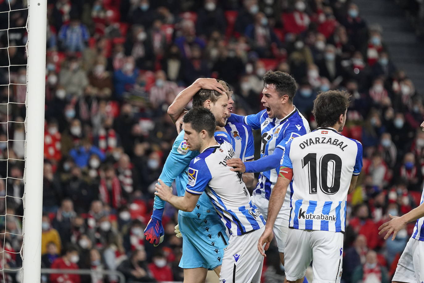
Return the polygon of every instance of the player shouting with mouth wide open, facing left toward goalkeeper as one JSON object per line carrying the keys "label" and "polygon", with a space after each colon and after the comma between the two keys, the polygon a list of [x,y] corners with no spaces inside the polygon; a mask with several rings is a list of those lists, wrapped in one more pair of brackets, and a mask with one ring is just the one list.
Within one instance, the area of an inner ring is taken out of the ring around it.
{"label": "player shouting with mouth wide open, facing left toward goalkeeper", "polygon": [[[252,202],[264,217],[268,213],[268,200],[276,184],[280,160],[286,144],[294,137],[310,132],[307,120],[293,105],[296,94],[296,81],[287,73],[268,71],[263,77],[262,104],[266,109],[257,114],[239,116],[232,114],[228,119],[232,123],[244,122],[252,129],[261,129],[261,158],[252,162],[240,159],[228,160],[234,167],[232,171],[260,172],[259,182],[253,192]],[[284,264],[285,238],[289,226],[290,194],[287,194],[275,222],[275,237],[280,260]]]}

